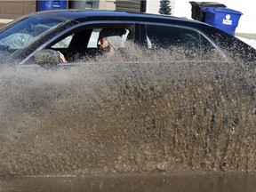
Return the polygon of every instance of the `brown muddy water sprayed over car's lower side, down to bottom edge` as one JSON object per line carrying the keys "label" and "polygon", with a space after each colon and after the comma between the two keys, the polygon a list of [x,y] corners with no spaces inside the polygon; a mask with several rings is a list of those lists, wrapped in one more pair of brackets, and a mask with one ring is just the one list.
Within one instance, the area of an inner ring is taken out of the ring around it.
{"label": "brown muddy water sprayed over car's lower side, down to bottom edge", "polygon": [[252,191],[255,73],[241,65],[3,68],[0,189]]}

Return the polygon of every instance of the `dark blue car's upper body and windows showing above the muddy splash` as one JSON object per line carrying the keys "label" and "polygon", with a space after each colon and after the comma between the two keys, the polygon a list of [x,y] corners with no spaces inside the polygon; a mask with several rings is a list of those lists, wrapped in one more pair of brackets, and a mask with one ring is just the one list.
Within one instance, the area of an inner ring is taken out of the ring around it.
{"label": "dark blue car's upper body and windows showing above the muddy splash", "polygon": [[[170,55],[180,50],[173,57],[175,61],[254,62],[256,57],[256,51],[235,36],[196,20],[146,13],[58,10],[31,13],[1,28],[1,62],[58,65],[54,51],[62,52],[69,62],[93,59],[99,54],[97,40],[102,28],[122,29],[123,52],[129,42],[140,47],[145,58],[161,50],[170,50]],[[131,54],[126,59],[136,60]]]}

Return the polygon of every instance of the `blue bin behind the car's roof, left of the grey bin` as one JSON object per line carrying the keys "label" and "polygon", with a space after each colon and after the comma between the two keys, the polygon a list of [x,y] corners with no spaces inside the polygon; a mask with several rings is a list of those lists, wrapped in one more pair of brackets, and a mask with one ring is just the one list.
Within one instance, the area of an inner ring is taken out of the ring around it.
{"label": "blue bin behind the car's roof, left of the grey bin", "polygon": [[36,11],[66,9],[66,0],[37,0]]}

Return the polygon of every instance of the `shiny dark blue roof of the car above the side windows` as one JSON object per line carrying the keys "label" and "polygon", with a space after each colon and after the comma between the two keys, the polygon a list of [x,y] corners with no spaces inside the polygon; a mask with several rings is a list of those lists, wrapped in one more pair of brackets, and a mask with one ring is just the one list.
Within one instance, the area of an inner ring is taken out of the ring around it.
{"label": "shiny dark blue roof of the car above the side windows", "polygon": [[29,15],[44,15],[49,17],[61,18],[63,20],[133,20],[133,21],[161,21],[161,22],[186,22],[205,24],[197,20],[188,20],[187,18],[178,18],[170,15],[143,13],[143,12],[120,12],[120,11],[104,11],[104,10],[84,10],[84,9],[67,9],[67,10],[47,10],[41,12],[33,12]]}

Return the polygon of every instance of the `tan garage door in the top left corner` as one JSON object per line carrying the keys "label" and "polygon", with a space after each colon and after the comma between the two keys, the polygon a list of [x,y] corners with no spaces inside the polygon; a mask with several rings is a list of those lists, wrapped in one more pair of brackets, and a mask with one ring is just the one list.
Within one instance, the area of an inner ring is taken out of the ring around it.
{"label": "tan garage door in the top left corner", "polygon": [[1,1],[0,19],[16,19],[24,14],[36,12],[36,0],[30,1]]}

